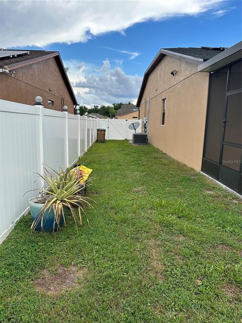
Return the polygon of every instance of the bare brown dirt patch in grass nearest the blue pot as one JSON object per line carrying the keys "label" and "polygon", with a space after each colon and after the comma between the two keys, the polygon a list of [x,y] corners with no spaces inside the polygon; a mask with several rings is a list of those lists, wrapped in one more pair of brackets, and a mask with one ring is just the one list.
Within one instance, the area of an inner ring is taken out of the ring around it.
{"label": "bare brown dirt patch in grass nearest the blue pot", "polygon": [[75,266],[70,268],[61,266],[54,274],[44,270],[41,277],[34,280],[34,285],[38,291],[46,292],[49,295],[57,295],[69,288],[80,286],[78,280],[82,280],[86,271],[85,267],[78,268]]}

